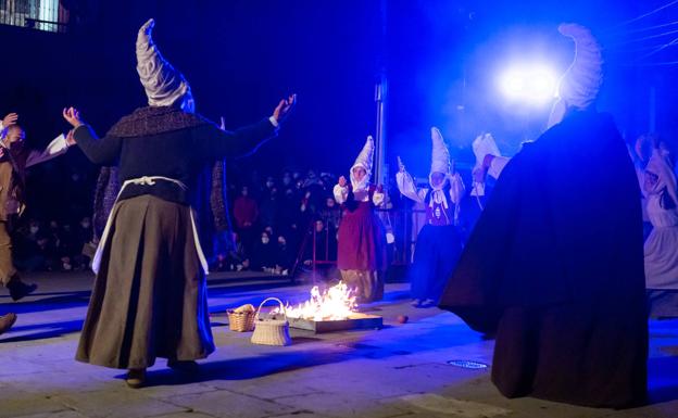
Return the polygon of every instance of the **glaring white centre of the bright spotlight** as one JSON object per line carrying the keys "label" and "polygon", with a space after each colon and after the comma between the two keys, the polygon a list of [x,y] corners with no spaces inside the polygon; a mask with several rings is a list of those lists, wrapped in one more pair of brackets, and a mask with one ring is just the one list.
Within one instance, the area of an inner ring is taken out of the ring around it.
{"label": "glaring white centre of the bright spotlight", "polygon": [[545,65],[515,65],[499,78],[499,87],[510,101],[540,105],[555,97],[557,79]]}

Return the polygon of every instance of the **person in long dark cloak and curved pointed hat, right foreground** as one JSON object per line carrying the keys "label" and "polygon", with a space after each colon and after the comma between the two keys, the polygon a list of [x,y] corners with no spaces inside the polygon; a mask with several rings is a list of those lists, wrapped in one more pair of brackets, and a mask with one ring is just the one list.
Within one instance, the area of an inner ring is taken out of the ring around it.
{"label": "person in long dark cloak and curved pointed hat, right foreground", "polygon": [[575,41],[550,128],[506,164],[440,307],[495,334],[507,397],[631,407],[646,394],[640,189],[625,142],[595,109],[601,47]]}

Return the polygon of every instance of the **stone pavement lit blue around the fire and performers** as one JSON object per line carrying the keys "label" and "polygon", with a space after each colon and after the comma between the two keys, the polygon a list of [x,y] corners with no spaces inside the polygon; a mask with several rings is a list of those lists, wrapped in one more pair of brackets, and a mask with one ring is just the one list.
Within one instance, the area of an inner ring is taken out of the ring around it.
{"label": "stone pavement lit blue around the fire and performers", "polygon": [[[191,380],[160,359],[149,369],[149,385],[133,390],[123,370],[73,359],[92,277],[50,274],[27,280],[40,288],[21,303],[0,293],[0,314],[20,316],[0,337],[0,417],[678,417],[674,320],[651,321],[652,404],[593,409],[506,400],[490,383],[489,367],[449,364],[490,366],[493,342],[452,314],[412,308],[403,283],[388,284],[386,300],[368,307],[384,316],[380,330],[293,330],[291,346],[253,345],[250,333],[228,330],[223,312],[269,295],[302,301],[310,286],[215,274],[210,308],[217,352],[201,362]],[[399,324],[403,314],[410,320]]]}

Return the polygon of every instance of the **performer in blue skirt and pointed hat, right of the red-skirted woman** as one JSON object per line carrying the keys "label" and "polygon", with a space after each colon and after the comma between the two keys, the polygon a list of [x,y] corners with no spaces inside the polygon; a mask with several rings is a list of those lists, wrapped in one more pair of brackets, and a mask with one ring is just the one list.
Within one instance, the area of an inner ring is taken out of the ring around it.
{"label": "performer in blue skirt and pointed hat, right of the red-skirted woman", "polygon": [[417,188],[398,159],[395,182],[400,192],[426,207],[426,224],[419,231],[410,269],[412,305],[436,306],[462,252],[457,230],[459,207],[464,182],[450,162],[450,152],[440,130],[431,128],[431,168],[427,188]]}

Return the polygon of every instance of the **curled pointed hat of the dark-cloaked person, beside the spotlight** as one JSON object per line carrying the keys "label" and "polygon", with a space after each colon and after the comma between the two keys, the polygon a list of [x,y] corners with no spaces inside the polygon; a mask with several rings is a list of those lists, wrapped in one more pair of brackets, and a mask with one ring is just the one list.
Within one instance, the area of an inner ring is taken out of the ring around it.
{"label": "curled pointed hat of the dark-cloaked person, beside the spotlight", "polygon": [[603,83],[601,46],[591,31],[578,24],[564,23],[558,31],[575,41],[575,60],[558,83],[558,101],[549,117],[549,127],[560,123],[569,109],[594,106]]}

